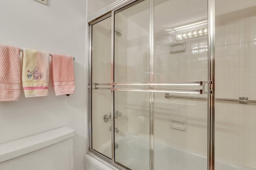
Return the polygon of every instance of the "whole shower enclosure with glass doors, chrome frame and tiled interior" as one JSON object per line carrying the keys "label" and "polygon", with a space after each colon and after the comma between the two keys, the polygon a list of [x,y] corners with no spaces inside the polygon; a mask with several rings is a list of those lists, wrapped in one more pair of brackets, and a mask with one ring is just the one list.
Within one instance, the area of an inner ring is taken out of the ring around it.
{"label": "whole shower enclosure with glass doors, chrome frame and tiled interior", "polygon": [[89,18],[89,154],[119,169],[256,170],[255,11],[120,0]]}

